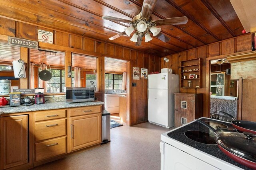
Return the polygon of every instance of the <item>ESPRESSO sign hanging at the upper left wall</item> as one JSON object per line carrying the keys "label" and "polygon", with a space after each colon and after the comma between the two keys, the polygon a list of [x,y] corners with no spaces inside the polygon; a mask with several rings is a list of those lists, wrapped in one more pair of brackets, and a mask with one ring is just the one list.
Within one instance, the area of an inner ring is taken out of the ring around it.
{"label": "ESPRESSO sign hanging at the upper left wall", "polygon": [[20,47],[38,49],[37,41],[30,41],[27,39],[21,39],[21,38],[16,38],[16,37],[9,37],[9,36],[8,36],[8,45],[16,45],[16,46],[20,46]]}

